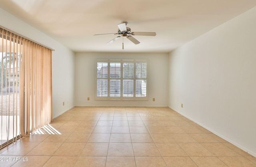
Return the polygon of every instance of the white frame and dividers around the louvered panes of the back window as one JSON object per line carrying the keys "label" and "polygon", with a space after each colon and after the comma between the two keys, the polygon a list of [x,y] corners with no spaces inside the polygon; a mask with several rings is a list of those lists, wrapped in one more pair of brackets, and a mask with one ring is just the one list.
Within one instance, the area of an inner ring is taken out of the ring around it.
{"label": "white frame and dividers around the louvered panes of the back window", "polygon": [[[95,67],[94,67],[94,77],[95,77],[95,93],[94,99],[95,100],[118,100],[118,101],[148,101],[148,71],[149,71],[149,60],[148,59],[141,59],[141,60],[132,60],[132,59],[125,59],[125,60],[116,60],[116,59],[95,59]],[[107,80],[108,83],[108,95],[105,97],[98,97],[97,96],[97,64],[98,63],[108,63],[108,77],[107,78],[100,78],[100,80]],[[120,78],[110,78],[110,63],[120,63]],[[123,78],[123,63],[134,63],[134,70],[133,70],[133,78]],[[136,78],[136,63],[146,63],[146,78]],[[110,96],[110,80],[120,80],[120,97]],[[133,97],[124,97],[123,96],[123,81],[124,80],[132,80],[133,81]],[[136,80],[146,80],[146,97],[136,97]]]}

